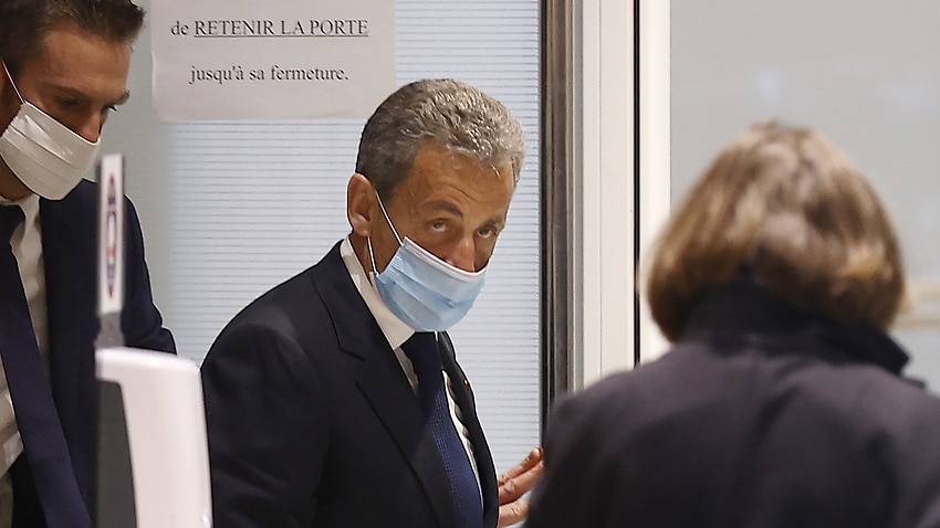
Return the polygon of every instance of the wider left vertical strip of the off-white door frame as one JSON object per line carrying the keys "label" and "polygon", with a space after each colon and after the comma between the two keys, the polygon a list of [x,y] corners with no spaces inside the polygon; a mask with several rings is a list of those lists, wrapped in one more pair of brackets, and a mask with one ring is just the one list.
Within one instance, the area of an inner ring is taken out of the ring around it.
{"label": "wider left vertical strip of the off-white door frame", "polygon": [[[585,0],[575,72],[576,387],[633,365],[634,70],[633,4]],[[578,24],[579,22],[579,24]],[[581,102],[578,107],[577,102]],[[578,239],[579,236],[579,239]]]}

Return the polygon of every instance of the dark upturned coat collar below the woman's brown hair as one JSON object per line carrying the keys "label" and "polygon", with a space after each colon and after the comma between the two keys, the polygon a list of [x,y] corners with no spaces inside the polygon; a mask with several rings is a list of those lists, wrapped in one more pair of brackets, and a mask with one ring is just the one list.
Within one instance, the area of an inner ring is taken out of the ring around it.
{"label": "dark upturned coat collar below the woman's brown hair", "polygon": [[794,308],[749,276],[707,294],[691,310],[683,339],[745,341],[771,352],[812,352],[834,362],[861,362],[900,374],[905,351],[867,323],[844,324]]}

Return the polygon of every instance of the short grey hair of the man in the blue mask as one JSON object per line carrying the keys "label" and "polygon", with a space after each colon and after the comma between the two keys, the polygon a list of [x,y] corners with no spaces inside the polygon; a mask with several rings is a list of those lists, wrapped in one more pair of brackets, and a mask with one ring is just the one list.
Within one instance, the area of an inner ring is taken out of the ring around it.
{"label": "short grey hair of the man in the blue mask", "polygon": [[435,144],[481,165],[512,165],[519,181],[525,157],[522,125],[502,103],[450,78],[422,80],[389,95],[366,122],[356,172],[383,201],[405,181],[418,150]]}

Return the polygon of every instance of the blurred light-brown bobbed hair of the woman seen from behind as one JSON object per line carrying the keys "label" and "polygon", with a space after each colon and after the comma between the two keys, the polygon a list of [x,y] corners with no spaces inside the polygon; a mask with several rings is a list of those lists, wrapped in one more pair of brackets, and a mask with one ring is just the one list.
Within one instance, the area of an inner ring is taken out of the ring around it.
{"label": "blurred light-brown bobbed hair of the woman seen from behind", "polygon": [[819,134],[752,126],[673,212],[647,283],[652,317],[678,339],[701,296],[749,267],[793,306],[886,328],[904,298],[897,237],[878,197]]}

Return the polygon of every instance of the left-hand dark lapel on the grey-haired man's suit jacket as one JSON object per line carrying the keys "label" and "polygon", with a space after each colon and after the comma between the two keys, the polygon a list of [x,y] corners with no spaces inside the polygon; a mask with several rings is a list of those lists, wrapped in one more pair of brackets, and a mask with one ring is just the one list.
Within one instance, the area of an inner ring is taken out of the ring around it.
{"label": "left-hand dark lapel on the grey-haired man's suit jacket", "polygon": [[312,278],[333,317],[340,347],[363,359],[356,380],[359,389],[411,465],[439,525],[457,526],[457,508],[447,472],[418,398],[349,278],[338,244],[324,257]]}

